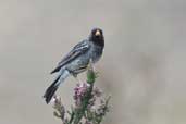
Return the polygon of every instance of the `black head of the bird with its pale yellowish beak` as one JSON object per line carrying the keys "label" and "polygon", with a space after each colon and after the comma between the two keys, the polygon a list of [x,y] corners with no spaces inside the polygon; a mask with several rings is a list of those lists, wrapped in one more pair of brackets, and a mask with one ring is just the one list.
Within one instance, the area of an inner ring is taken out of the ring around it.
{"label": "black head of the bird with its pale yellowish beak", "polygon": [[94,28],[90,34],[90,41],[99,46],[104,46],[103,33],[100,28]]}

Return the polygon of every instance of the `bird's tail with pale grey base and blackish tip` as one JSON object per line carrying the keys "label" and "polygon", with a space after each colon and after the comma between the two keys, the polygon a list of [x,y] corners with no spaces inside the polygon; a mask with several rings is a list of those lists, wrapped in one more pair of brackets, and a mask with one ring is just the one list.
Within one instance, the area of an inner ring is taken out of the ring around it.
{"label": "bird's tail with pale grey base and blackish tip", "polygon": [[47,103],[50,102],[51,98],[53,97],[54,92],[57,91],[58,87],[64,79],[70,75],[67,70],[61,69],[59,76],[54,79],[54,82],[47,88],[44,98]]}

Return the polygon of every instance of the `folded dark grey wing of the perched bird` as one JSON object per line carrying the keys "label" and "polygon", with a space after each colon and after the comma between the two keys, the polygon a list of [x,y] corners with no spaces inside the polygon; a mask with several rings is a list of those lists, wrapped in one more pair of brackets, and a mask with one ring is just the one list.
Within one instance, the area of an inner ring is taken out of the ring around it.
{"label": "folded dark grey wing of the perched bird", "polygon": [[55,73],[59,72],[62,66],[70,63],[80,54],[85,53],[90,48],[87,40],[83,40],[82,42],[77,44],[59,63],[58,66],[51,72]]}

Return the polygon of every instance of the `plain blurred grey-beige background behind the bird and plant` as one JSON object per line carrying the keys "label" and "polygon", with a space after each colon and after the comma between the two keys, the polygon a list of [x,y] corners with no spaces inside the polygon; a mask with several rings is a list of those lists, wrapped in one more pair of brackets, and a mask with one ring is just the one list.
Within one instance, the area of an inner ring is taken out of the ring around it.
{"label": "plain blurred grey-beige background behind the bird and plant", "polygon": [[[49,72],[94,27],[97,86],[112,95],[103,124],[186,123],[185,0],[0,0],[1,124],[61,123],[42,99]],[[66,106],[74,86],[58,90]]]}

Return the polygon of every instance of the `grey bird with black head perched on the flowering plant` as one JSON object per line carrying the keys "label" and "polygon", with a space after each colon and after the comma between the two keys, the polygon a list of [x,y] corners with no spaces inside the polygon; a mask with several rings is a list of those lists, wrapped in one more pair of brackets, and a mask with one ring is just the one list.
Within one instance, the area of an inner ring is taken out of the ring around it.
{"label": "grey bird with black head perched on the flowering plant", "polygon": [[58,73],[53,83],[45,91],[44,98],[48,104],[54,96],[60,84],[69,76],[75,78],[79,73],[87,70],[91,60],[92,64],[101,58],[104,48],[104,36],[101,28],[92,28],[89,36],[78,42],[73,49],[58,63],[50,74]]}

